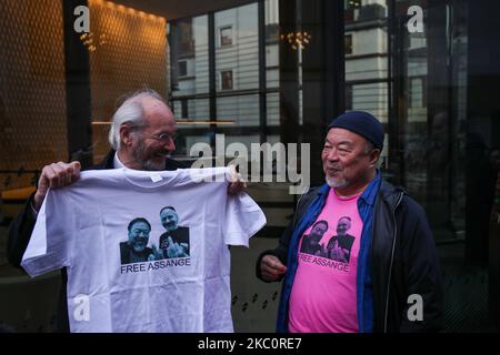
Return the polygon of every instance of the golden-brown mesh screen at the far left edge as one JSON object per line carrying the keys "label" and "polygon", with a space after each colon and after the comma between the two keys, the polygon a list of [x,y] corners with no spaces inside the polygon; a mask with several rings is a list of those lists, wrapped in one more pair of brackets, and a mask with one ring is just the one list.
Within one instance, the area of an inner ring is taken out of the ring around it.
{"label": "golden-brown mesh screen at the far left edge", "polygon": [[[0,191],[68,159],[62,7],[58,0],[0,1]],[[10,173],[9,171],[16,171]]]}

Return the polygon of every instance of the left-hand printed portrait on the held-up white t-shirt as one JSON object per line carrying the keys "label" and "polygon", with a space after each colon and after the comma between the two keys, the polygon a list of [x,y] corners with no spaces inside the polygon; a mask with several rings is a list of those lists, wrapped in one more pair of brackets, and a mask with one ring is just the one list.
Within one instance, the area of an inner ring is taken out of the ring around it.
{"label": "left-hand printed portrait on the held-up white t-shirt", "polygon": [[154,260],[154,253],[148,247],[151,224],[147,219],[137,217],[128,225],[128,241],[120,243],[121,264],[143,263]]}

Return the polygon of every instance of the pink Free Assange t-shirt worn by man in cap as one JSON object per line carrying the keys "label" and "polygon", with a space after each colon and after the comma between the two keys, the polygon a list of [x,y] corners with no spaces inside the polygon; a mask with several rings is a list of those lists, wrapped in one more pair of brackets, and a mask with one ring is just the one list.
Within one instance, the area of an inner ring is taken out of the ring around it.
{"label": "pink Free Assange t-shirt worn by man in cap", "polygon": [[292,333],[358,332],[359,196],[340,199],[330,189],[321,214],[300,240],[290,295]]}

